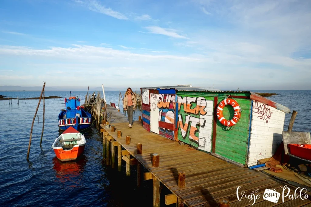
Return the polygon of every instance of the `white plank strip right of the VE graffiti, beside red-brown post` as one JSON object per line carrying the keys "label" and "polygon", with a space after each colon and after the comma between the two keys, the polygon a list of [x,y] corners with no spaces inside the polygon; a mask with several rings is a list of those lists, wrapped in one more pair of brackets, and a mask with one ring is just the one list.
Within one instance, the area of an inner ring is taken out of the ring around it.
{"label": "white plank strip right of the VE graffiti, beside red-brown post", "polygon": [[[212,143],[212,124],[213,124],[213,101],[199,100],[197,104],[200,104],[207,112],[205,115],[200,115],[200,128],[199,128],[199,149],[207,152],[211,152]],[[205,121],[205,124],[204,124]]]}

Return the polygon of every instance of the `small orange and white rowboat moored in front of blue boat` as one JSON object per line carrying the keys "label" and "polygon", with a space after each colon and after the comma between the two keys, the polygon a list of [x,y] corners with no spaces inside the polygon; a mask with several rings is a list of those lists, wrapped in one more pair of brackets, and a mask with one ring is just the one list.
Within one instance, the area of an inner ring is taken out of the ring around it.
{"label": "small orange and white rowboat moored in front of blue boat", "polygon": [[85,143],[84,136],[73,127],[69,127],[55,139],[52,148],[60,161],[69,161],[77,159],[83,153]]}

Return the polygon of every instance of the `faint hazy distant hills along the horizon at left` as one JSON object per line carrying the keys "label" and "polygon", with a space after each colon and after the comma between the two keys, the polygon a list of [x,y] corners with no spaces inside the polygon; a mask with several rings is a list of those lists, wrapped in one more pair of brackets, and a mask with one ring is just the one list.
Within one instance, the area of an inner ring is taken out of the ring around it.
{"label": "faint hazy distant hills along the horizon at left", "polygon": [[[112,87],[105,87],[105,90],[126,90],[126,88],[112,88]],[[19,86],[19,85],[3,85],[0,86],[0,91],[41,91],[42,86]],[[72,86],[72,87],[58,87],[58,86],[53,86],[53,87],[45,87],[45,90],[56,90],[56,91],[63,91],[63,90],[71,90],[71,91],[77,91],[77,90],[83,90],[87,91],[87,86],[81,87],[81,86]],[[90,87],[90,91],[98,91],[102,90],[102,87]]]}

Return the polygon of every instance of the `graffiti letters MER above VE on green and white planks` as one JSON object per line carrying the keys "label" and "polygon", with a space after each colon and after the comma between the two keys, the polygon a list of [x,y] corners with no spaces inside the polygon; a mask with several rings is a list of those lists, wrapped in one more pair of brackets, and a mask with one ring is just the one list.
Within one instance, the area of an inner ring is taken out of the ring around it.
{"label": "graffiti letters MER above VE on green and white planks", "polygon": [[199,149],[211,151],[213,101],[204,97],[178,96],[179,140],[191,140]]}

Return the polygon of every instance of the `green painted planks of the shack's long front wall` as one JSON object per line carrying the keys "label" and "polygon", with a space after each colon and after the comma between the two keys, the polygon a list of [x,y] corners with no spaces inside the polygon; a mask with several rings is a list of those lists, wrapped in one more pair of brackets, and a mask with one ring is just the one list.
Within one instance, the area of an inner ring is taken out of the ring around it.
{"label": "green painted planks of the shack's long front wall", "polygon": [[[218,97],[218,104],[228,95],[234,96],[244,96],[249,97],[250,93],[241,92],[241,93],[230,93],[230,92],[193,92],[193,91],[179,91],[177,95],[184,97],[204,97],[206,100],[214,100],[214,97]],[[216,147],[215,153],[219,154],[227,159],[233,160],[237,163],[245,164],[247,159],[247,146],[248,146],[248,136],[249,136],[249,122],[250,122],[250,109],[251,109],[251,100],[250,99],[238,99],[235,100],[239,103],[242,112],[239,122],[234,127],[231,127],[229,131],[226,131],[225,126],[221,125],[218,119],[216,120]],[[180,104],[180,103],[179,103]],[[196,103],[192,103],[190,108],[195,108]],[[215,107],[215,106],[214,106]],[[185,120],[186,115],[183,108],[183,104],[180,107],[178,114]],[[231,119],[234,114],[234,110],[230,106],[225,106],[223,110],[225,119]],[[193,117],[200,117],[200,114],[191,114]],[[177,117],[178,118],[178,117]],[[214,124],[214,123],[213,123]],[[196,142],[189,140],[189,131],[190,131],[191,122],[188,124],[186,137],[183,138],[181,134],[180,126],[178,126],[178,140],[183,141],[194,147],[198,147]],[[195,136],[199,137],[199,127]]]}

